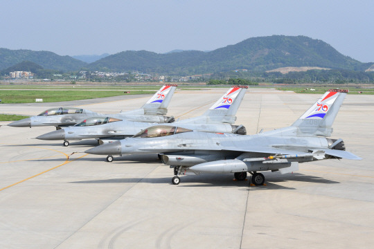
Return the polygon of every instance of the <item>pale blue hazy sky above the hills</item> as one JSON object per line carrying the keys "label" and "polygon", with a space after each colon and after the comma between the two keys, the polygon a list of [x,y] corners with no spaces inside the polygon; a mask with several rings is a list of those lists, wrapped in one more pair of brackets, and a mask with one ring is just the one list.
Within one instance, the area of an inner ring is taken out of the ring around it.
{"label": "pale blue hazy sky above the hills", "polygon": [[305,35],[374,62],[374,1],[0,0],[0,47],[58,55],[214,50]]}

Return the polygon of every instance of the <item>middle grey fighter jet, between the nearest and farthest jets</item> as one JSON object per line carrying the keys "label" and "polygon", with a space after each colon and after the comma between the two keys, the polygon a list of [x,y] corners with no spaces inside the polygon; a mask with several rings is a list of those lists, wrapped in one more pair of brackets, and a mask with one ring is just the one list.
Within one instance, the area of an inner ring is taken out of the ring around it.
{"label": "middle grey fighter jet, between the nearest and farthest jets", "polygon": [[[235,114],[238,111],[247,88],[248,86],[232,86],[204,115],[175,122],[175,126],[197,131],[245,134],[245,127],[242,125],[233,125],[233,122],[236,120]],[[99,144],[104,144],[113,142],[113,140],[134,136],[139,131],[147,128],[145,132],[148,132],[148,134],[162,132],[163,127],[153,128],[151,127],[153,125],[149,122],[134,122],[112,117],[89,118],[79,124],[75,124],[75,126],[38,136],[37,139],[64,140],[63,145],[68,146],[69,140],[96,138]],[[107,157],[107,161],[112,162],[112,160],[113,156]]]}

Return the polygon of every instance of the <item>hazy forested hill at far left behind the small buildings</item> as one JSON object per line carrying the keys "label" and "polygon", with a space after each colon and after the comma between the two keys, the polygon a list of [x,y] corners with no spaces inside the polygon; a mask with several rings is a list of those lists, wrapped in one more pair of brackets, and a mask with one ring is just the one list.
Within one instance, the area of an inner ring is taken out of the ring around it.
{"label": "hazy forested hill at far left behind the small buildings", "polygon": [[0,70],[24,61],[34,62],[44,68],[58,71],[76,71],[87,65],[73,57],[56,55],[48,51],[0,48]]}

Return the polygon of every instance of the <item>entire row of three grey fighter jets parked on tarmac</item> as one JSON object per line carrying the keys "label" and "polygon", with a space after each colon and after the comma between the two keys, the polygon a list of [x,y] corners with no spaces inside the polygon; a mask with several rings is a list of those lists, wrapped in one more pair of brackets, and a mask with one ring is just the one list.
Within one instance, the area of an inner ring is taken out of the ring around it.
{"label": "entire row of three grey fighter jets parked on tarmac", "polygon": [[[246,86],[233,86],[203,116],[173,122],[174,118],[164,115],[175,87],[163,86],[134,115],[131,112],[100,115],[82,109],[64,114],[62,108],[59,114],[48,115],[51,113],[48,110],[46,115],[9,125],[55,125],[57,131],[37,138],[64,140],[65,146],[69,145],[68,140],[96,138],[100,145],[85,152],[107,155],[107,161],[112,161],[113,155],[157,153],[164,164],[174,169],[175,185],[180,183],[179,176],[188,174],[228,173],[244,181],[247,172],[252,175],[254,185],[262,185],[265,176],[259,172],[285,174],[298,170],[299,163],[314,160],[361,160],[346,151],[341,138],[327,138],[332,134],[332,123],[348,93],[346,90],[327,91],[290,127],[246,135],[244,126],[233,124]],[[86,116],[78,118],[78,114]],[[48,116],[62,117],[43,120]],[[158,123],[154,124],[154,120]],[[69,122],[75,125],[60,129]]]}

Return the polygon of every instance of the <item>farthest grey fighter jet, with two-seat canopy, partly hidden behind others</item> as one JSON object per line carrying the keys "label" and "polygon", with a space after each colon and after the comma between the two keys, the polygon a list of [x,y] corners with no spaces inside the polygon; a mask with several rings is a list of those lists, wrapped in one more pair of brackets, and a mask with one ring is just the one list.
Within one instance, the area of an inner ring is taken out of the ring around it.
{"label": "farthest grey fighter jet, with two-seat canopy, partly hidden behind others", "polygon": [[[173,122],[173,117],[165,116],[168,112],[168,104],[172,95],[177,88],[175,84],[165,84],[155,93],[141,109],[133,111],[125,111],[112,114],[112,118],[121,120],[132,120],[137,122]],[[106,117],[107,114],[100,114],[86,109],[74,107],[57,107],[43,111],[38,116],[24,118],[8,124],[11,127],[40,127],[54,126],[56,129],[60,127],[78,124],[87,118]]]}

